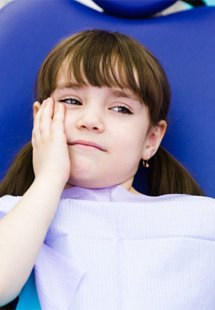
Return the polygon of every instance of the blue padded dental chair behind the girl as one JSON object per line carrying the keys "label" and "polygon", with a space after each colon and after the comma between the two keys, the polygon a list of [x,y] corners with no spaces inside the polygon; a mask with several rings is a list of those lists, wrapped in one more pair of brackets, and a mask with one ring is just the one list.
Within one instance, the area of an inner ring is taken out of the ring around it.
{"label": "blue padded dental chair behind the girl", "polygon": [[[152,3],[153,2],[153,3]],[[35,77],[49,50],[87,28],[120,31],[148,47],[170,81],[172,104],[163,146],[215,197],[215,7],[155,15],[175,0],[16,0],[0,10],[0,179],[31,139]],[[136,179],[141,191],[142,180]],[[40,309],[34,274],[18,310]]]}

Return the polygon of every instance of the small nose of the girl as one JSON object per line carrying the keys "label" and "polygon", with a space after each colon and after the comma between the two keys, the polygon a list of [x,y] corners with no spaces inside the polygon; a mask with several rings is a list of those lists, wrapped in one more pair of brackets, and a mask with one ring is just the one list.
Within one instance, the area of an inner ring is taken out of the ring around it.
{"label": "small nose of the girl", "polygon": [[88,130],[98,133],[103,132],[104,121],[101,111],[97,111],[96,109],[86,109],[82,111],[76,125],[79,130]]}

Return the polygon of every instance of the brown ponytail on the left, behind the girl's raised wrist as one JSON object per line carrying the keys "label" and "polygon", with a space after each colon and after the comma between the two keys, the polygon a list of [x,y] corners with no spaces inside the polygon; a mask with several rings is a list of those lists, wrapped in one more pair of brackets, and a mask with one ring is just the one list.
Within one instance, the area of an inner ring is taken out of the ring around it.
{"label": "brown ponytail on the left, behind the girl's raised wrist", "polygon": [[0,183],[0,197],[4,195],[22,196],[34,180],[32,146],[26,144],[17,154],[7,174]]}

